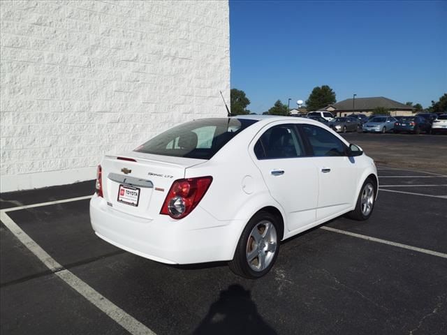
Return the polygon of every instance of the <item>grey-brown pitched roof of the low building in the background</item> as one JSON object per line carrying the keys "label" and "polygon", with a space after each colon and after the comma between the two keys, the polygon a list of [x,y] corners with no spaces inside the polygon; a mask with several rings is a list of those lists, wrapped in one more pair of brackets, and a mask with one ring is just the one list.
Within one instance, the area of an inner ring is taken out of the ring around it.
{"label": "grey-brown pitched roof of the low building in the background", "polygon": [[[326,108],[332,106],[335,111],[340,112],[344,110],[353,110],[352,106],[353,99],[346,99],[344,101],[339,101],[332,105],[326,106]],[[354,110],[374,110],[376,107],[385,107],[388,110],[413,110],[413,107],[404,105],[398,101],[394,101],[383,96],[376,96],[372,98],[356,98],[354,102]]]}

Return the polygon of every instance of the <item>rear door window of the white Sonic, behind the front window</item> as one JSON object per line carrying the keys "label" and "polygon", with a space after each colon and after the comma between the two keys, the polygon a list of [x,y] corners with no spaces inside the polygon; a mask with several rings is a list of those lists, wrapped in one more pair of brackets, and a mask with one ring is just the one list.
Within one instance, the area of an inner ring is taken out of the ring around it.
{"label": "rear door window of the white Sonic, behind the front window", "polygon": [[305,156],[304,147],[292,124],[269,128],[254,146],[258,159],[293,158]]}

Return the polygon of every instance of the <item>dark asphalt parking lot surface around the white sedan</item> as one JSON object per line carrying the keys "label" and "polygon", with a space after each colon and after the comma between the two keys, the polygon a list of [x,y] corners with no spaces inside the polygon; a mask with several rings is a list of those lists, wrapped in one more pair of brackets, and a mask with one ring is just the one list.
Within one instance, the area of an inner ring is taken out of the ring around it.
{"label": "dark asphalt parking lot surface around the white sedan", "polygon": [[369,221],[284,241],[256,281],[101,241],[92,181],[3,193],[1,334],[447,334],[447,175],[430,170],[379,166]]}

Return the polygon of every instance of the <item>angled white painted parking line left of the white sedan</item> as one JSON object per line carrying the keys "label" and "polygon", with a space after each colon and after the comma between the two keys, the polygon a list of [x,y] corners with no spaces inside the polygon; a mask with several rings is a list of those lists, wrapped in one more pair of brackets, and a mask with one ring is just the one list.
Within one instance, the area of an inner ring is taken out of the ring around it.
{"label": "angled white painted parking line left of the white sedan", "polygon": [[[82,198],[82,197],[81,197]],[[75,198],[75,200],[81,200],[80,198]],[[72,201],[75,201],[72,200]],[[67,200],[59,200],[59,202]],[[38,207],[38,205],[45,206],[45,204],[50,204],[49,202],[44,202],[43,204],[36,204],[33,207]],[[27,208],[30,208],[29,206]],[[22,208],[23,209],[23,208]],[[117,322],[118,325],[126,329],[129,333],[133,335],[155,335],[151,329],[143,325],[140,321],[133,318],[131,315],[123,311],[117,305],[113,304],[112,301],[101,295],[101,293],[91,288],[85,281],[82,281],[78,276],[75,276],[71,271],[64,269],[54,258],[52,258],[48,253],[41,248],[29,235],[22,230],[12,218],[6,214],[8,209],[2,209],[0,211],[0,220],[6,225],[6,227],[14,234],[19,241],[26,246],[31,253],[36,255],[36,257],[43,262],[43,264],[50,269],[56,276],[61,278],[62,281],[67,283],[71,288],[78,291],[82,297],[85,297],[91,304],[94,304],[103,313],[108,315],[109,318]]]}

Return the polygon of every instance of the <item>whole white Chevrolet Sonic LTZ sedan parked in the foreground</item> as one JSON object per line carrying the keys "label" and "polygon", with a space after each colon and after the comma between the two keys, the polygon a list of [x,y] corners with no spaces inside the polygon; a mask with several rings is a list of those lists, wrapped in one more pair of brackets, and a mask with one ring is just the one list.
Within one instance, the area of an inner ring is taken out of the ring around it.
{"label": "whole white Chevrolet Sonic LTZ sedan parked in the foreground", "polygon": [[167,264],[229,261],[268,273],[279,241],[377,196],[372,158],[312,119],[238,116],[172,128],[98,166],[91,225],[101,239]]}

